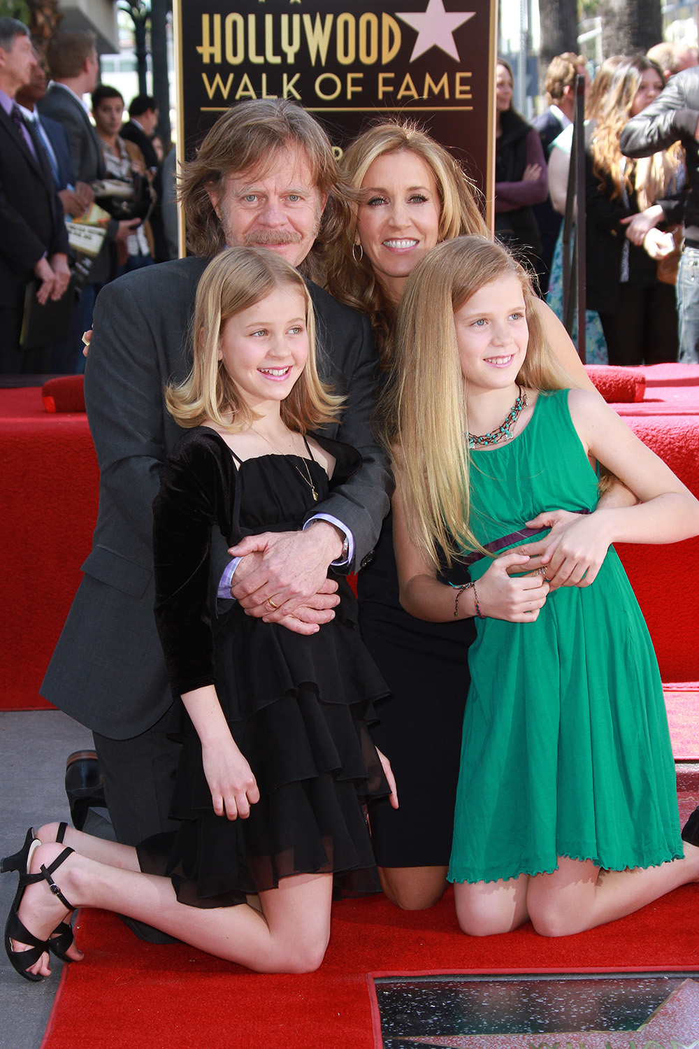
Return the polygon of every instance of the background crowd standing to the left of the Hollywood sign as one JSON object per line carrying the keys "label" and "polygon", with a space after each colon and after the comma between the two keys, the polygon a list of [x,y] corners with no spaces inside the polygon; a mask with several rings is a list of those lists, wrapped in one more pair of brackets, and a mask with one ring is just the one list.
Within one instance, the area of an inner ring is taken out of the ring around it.
{"label": "background crowd standing to the left of the Hollywood sign", "polygon": [[[18,28],[14,19],[2,20],[0,101],[8,140],[0,162],[6,198],[2,217],[9,223],[6,229],[15,230],[15,244],[3,238],[6,247],[0,264],[12,270],[12,278],[8,274],[3,281],[0,306],[6,318],[0,336],[0,373],[81,371],[81,337],[92,326],[100,290],[132,269],[165,262],[177,253],[172,234],[168,238],[165,231],[163,202],[168,197],[174,201],[174,165],[169,165],[166,188],[163,146],[155,136],[157,101],[137,94],[125,123],[121,92],[97,86],[99,72],[92,34],[58,33],[41,58],[28,30]],[[87,95],[89,108],[84,103]],[[114,189],[116,197],[109,192]],[[132,205],[137,197],[146,201],[139,212]],[[70,283],[65,275],[57,278],[50,264],[57,254],[50,249],[59,241],[64,249],[59,257],[73,254],[65,243],[64,218],[105,231],[96,257],[83,260]],[[36,262],[40,249],[45,257]],[[31,278],[38,282],[42,302],[70,297],[72,315],[64,337],[24,348],[20,346],[24,296]]]}

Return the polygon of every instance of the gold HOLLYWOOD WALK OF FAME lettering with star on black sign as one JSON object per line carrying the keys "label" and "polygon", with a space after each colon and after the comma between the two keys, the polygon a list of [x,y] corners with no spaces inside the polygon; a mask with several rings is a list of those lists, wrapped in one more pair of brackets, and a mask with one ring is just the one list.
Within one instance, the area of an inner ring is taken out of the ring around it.
{"label": "gold HOLLYWOOD WALK OF FAME lettering with star on black sign", "polygon": [[[285,98],[306,105],[313,101],[406,105],[411,100],[433,99],[469,109],[472,73],[452,68],[460,64],[453,34],[474,15],[445,12],[443,0],[430,0],[422,13],[343,12],[322,16],[315,12],[314,17],[296,12],[202,13],[201,43],[196,51],[201,65],[210,66],[201,70],[201,78],[209,101],[215,104]],[[405,65],[399,73],[386,69],[402,47],[406,26],[411,41],[417,33],[410,62],[435,48],[430,58],[441,59],[438,71],[410,73],[405,72]],[[453,60],[447,69],[444,56]],[[297,63],[303,73],[293,69]],[[235,69],[240,66],[244,69]],[[260,69],[256,74],[255,66],[264,67],[264,71]]]}

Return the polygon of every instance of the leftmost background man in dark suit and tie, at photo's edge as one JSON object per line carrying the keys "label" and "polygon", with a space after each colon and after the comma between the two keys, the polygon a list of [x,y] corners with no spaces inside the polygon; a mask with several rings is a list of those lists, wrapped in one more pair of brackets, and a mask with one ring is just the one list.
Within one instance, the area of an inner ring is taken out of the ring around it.
{"label": "leftmost background man in dark suit and tie, at photo's edge", "polygon": [[70,280],[68,238],[53,176],[38,138],[15,102],[36,65],[29,31],[0,19],[0,372],[48,370],[50,345],[20,348],[24,294],[32,277],[37,299],[60,299]]}

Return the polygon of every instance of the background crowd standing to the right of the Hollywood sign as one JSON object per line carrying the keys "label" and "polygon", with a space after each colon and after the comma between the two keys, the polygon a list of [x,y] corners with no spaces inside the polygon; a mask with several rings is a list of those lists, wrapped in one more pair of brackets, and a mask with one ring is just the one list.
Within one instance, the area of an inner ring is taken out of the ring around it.
{"label": "background crowd standing to the right of the Hollywood sign", "polygon": [[[577,193],[585,195],[586,359],[590,364],[659,364],[677,361],[678,355],[683,361],[699,360],[697,322],[689,304],[682,311],[682,293],[676,290],[686,213],[692,208],[685,140],[693,140],[696,128],[680,127],[673,132],[665,120],[660,141],[662,119],[658,117],[653,124],[655,141],[640,146],[622,143],[630,122],[640,128],[639,119],[653,117],[653,104],[670,78],[681,73],[678,83],[683,78],[690,85],[696,81],[699,91],[699,73],[693,71],[697,66],[696,48],[662,43],[648,56],[608,58],[591,80],[584,56],[558,55],[546,73],[548,108],[529,126],[512,110],[511,70],[498,60],[496,236],[516,245],[519,257],[530,262],[539,295],[561,319],[565,291],[562,220],[568,197],[576,78],[585,78],[586,181]],[[672,114],[682,105],[691,108],[680,100],[661,107],[660,112]],[[532,137],[534,130],[540,142]],[[520,143],[519,151],[515,141]],[[507,169],[503,156],[508,158]],[[686,247],[692,249],[691,241]],[[695,283],[692,277],[685,284]],[[691,288],[685,299],[689,303]],[[697,314],[696,307],[693,313]]]}

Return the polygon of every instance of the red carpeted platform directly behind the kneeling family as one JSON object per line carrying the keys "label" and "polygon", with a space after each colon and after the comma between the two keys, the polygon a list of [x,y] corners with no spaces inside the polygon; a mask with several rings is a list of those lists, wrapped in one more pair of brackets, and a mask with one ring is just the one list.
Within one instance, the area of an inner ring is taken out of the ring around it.
{"label": "red carpeted platform directly behind the kneeling family", "polygon": [[[614,408],[699,494],[699,365],[658,364],[640,403]],[[84,413],[48,413],[39,388],[0,390],[3,659],[0,709],[46,706],[39,686],[80,581],[97,511],[97,467]],[[620,545],[663,681],[699,680],[699,539]]]}

